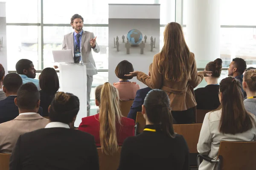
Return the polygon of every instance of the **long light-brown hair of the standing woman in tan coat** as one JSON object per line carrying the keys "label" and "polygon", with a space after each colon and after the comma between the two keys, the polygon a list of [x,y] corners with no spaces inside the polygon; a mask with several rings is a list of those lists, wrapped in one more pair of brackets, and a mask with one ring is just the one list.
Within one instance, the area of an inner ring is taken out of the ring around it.
{"label": "long light-brown hair of the standing woman in tan coat", "polygon": [[[190,51],[186,45],[182,27],[178,23],[168,23],[163,33],[163,48],[158,61],[159,72],[166,79],[180,82],[190,80]],[[170,71],[172,70],[172,71]]]}

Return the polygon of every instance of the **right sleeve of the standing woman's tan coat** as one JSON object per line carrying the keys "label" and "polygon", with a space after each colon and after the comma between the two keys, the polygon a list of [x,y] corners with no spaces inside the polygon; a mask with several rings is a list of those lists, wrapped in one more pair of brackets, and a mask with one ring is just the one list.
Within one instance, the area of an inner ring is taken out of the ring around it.
{"label": "right sleeve of the standing woman's tan coat", "polygon": [[204,74],[202,72],[198,72],[197,71],[197,67],[196,67],[196,62],[195,62],[195,55],[194,53],[191,53],[192,56],[192,65],[191,65],[191,80],[189,81],[189,85],[192,86],[192,88],[195,88],[196,86],[198,86],[203,78],[204,78]]}

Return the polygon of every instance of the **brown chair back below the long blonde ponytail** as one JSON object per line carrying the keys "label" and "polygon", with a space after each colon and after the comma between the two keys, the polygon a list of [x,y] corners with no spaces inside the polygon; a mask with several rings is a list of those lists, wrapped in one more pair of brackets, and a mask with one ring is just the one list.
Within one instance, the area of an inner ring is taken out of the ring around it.
{"label": "brown chair back below the long blonde ponytail", "polygon": [[113,156],[106,155],[102,152],[102,148],[97,148],[99,154],[99,170],[116,170],[119,167],[121,148]]}

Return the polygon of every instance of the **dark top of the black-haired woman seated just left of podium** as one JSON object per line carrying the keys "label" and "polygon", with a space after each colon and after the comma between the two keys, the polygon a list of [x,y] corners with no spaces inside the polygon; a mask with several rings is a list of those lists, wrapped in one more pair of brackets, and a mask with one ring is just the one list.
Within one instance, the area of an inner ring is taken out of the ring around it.
{"label": "dark top of the black-haired woman seated just left of podium", "polygon": [[55,93],[48,93],[46,91],[40,92],[40,106],[43,108],[43,116],[49,116],[48,108],[54,98]]}

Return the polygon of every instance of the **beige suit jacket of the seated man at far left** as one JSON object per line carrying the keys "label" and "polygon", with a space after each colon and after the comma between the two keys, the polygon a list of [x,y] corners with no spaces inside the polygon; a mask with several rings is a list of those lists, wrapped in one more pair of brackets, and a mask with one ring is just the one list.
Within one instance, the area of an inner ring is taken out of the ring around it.
{"label": "beige suit jacket of the seated man at far left", "polygon": [[15,119],[0,124],[0,153],[12,153],[20,135],[44,128],[49,123],[36,114],[19,115]]}

